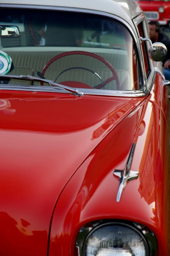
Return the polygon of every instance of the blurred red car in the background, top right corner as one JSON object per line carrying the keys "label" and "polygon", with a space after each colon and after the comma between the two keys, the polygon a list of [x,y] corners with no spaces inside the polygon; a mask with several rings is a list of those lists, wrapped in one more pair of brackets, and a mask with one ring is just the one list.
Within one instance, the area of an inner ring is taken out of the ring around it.
{"label": "blurred red car in the background, top right corner", "polygon": [[160,25],[169,25],[170,1],[137,1],[138,5],[145,12],[147,19],[157,20]]}

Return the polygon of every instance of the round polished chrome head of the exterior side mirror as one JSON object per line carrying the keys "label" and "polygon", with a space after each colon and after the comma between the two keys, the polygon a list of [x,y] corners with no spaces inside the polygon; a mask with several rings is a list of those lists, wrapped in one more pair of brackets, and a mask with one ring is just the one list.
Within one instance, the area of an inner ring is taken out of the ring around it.
{"label": "round polished chrome head of the exterior side mirror", "polygon": [[155,48],[154,50],[149,47],[149,57],[154,61],[163,61],[167,54],[167,48],[163,43],[157,42],[153,43],[152,46]]}

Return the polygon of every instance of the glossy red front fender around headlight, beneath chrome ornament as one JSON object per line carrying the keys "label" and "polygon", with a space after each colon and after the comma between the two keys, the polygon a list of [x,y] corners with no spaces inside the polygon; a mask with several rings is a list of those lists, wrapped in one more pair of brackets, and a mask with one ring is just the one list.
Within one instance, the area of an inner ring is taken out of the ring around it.
{"label": "glossy red front fender around headlight, beneath chrome ornament", "polygon": [[[78,231],[99,219],[146,225],[157,237],[157,255],[169,256],[169,105],[163,107],[168,97],[162,87],[157,74],[149,97],[106,136],[67,183],[52,219],[49,256],[75,255]],[[127,184],[117,203],[119,181],[113,172],[125,167],[133,142],[131,170],[139,171],[139,178]]]}

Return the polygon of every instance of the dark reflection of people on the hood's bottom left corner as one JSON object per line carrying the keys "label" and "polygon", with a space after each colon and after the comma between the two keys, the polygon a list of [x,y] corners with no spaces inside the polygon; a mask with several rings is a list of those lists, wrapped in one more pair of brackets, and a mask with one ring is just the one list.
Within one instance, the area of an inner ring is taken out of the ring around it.
{"label": "dark reflection of people on the hood's bottom left corner", "polygon": [[[23,227],[28,223],[22,220]],[[27,235],[25,229],[17,228],[17,221],[5,212],[0,212],[0,255],[46,255],[47,254],[47,231],[32,231],[31,235]],[[7,242],[8,241],[8,242]],[[27,250],[26,250],[27,248]]]}

